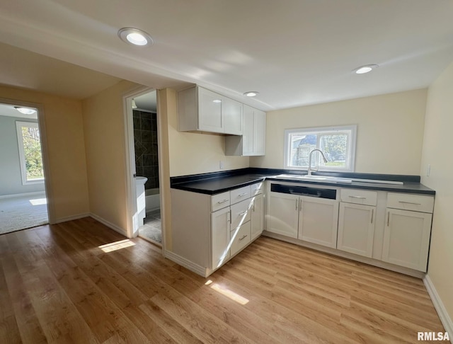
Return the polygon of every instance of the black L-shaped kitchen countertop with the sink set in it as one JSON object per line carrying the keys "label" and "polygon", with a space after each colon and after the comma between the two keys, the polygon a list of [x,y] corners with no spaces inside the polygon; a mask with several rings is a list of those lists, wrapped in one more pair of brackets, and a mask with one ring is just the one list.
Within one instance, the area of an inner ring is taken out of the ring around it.
{"label": "black L-shaped kitchen countertop with the sink set in it", "polygon": [[[287,172],[287,171],[285,171]],[[348,178],[366,178],[377,180],[400,180],[403,185],[384,184],[384,183],[364,183],[353,181],[352,183],[331,183],[317,182],[309,180],[294,180],[285,178],[275,178],[282,174],[282,170],[272,170],[266,168],[242,168],[241,170],[226,171],[222,173],[204,173],[193,176],[182,176],[171,178],[171,188],[191,191],[193,193],[204,193],[206,195],[216,195],[229,190],[241,188],[242,186],[259,183],[263,180],[273,180],[291,183],[304,183],[311,185],[331,185],[341,188],[358,188],[366,190],[380,190],[394,193],[418,193],[422,195],[435,195],[435,190],[426,187],[414,180],[414,176],[389,176],[389,175],[365,175],[365,173],[348,173]],[[338,176],[338,175],[337,175]],[[372,177],[374,178],[372,178]],[[418,177],[419,180],[420,177]]]}

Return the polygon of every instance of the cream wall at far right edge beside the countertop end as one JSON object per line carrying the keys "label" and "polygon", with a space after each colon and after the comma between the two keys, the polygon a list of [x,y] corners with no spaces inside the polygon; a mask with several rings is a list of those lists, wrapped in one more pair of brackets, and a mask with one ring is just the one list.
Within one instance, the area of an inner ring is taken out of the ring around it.
{"label": "cream wall at far right edge beside the countertop end", "polygon": [[[428,276],[453,319],[453,63],[428,89],[420,174],[436,190]],[[431,165],[430,176],[426,176]],[[452,336],[452,333],[450,333]]]}

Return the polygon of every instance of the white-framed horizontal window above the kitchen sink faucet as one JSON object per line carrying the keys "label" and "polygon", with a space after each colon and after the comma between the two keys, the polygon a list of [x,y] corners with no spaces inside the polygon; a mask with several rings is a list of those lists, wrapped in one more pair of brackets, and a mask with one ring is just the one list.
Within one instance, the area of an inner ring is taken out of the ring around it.
{"label": "white-framed horizontal window above the kitchen sink faucet", "polygon": [[353,172],[355,168],[355,137],[357,125],[285,130],[285,168],[306,170],[309,155],[314,152],[311,168],[319,171]]}

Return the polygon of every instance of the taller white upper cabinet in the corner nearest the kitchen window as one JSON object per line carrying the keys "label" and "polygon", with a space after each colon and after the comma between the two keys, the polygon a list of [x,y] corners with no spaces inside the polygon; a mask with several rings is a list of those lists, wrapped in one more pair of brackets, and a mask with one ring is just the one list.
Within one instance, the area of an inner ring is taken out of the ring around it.
{"label": "taller white upper cabinet in the corner nearest the kitchen window", "polygon": [[225,154],[253,156],[265,154],[266,113],[243,105],[242,136],[225,137]]}

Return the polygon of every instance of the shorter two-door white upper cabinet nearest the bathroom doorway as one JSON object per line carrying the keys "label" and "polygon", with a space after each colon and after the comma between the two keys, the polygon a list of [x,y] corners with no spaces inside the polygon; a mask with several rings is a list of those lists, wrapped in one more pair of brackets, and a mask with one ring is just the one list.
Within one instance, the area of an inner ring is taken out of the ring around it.
{"label": "shorter two-door white upper cabinet nearest the bathroom doorway", "polygon": [[242,103],[194,86],[178,92],[178,130],[242,134]]}

